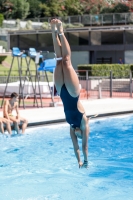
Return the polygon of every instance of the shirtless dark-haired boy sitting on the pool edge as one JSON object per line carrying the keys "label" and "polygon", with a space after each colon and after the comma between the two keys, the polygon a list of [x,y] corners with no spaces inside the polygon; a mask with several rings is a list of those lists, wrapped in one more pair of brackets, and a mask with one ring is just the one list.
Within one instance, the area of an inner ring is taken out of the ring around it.
{"label": "shirtless dark-haired boy sitting on the pool edge", "polygon": [[[16,110],[16,114],[17,116],[14,116],[12,114],[13,110]],[[12,121],[14,123],[15,126],[15,130],[17,133],[20,133],[19,130],[19,123],[22,122],[22,133],[25,132],[25,129],[27,127],[28,121],[22,117],[20,117],[19,115],[19,109],[18,109],[18,94],[13,92],[11,94],[11,98],[10,100],[6,100],[4,102],[4,107],[3,107],[3,115],[6,119]]]}

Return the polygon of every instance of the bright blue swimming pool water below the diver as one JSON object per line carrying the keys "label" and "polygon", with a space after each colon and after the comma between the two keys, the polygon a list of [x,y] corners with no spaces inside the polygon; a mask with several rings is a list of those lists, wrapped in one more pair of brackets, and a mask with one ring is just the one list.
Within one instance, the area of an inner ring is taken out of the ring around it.
{"label": "bright blue swimming pool water below the diver", "polygon": [[90,122],[88,170],[67,124],[0,135],[0,200],[133,200],[133,116]]}

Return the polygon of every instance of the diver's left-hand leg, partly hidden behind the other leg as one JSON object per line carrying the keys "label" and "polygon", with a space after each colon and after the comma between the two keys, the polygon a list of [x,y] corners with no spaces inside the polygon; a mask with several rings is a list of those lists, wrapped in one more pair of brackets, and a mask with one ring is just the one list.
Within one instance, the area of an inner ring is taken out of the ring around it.
{"label": "diver's left-hand leg, partly hidden behind the other leg", "polygon": [[[58,33],[56,31],[56,19],[53,19],[51,21],[51,29],[52,29],[54,50],[55,50],[57,58],[60,58],[60,57],[62,57],[61,43],[60,43],[60,40],[58,38]],[[56,68],[55,68],[55,71],[54,71],[54,81],[55,81],[56,90],[60,94],[61,87],[64,83],[64,81],[63,81],[63,71],[62,71],[62,60],[57,61]]]}

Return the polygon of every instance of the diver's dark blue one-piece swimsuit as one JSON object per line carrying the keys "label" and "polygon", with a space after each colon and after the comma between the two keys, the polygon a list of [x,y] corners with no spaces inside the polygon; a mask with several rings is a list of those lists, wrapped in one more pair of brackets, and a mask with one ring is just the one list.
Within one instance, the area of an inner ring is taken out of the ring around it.
{"label": "diver's dark blue one-piece swimsuit", "polygon": [[64,105],[66,121],[71,125],[71,127],[80,128],[81,120],[84,113],[79,112],[77,108],[79,96],[72,97],[67,91],[65,84],[63,84],[60,97]]}

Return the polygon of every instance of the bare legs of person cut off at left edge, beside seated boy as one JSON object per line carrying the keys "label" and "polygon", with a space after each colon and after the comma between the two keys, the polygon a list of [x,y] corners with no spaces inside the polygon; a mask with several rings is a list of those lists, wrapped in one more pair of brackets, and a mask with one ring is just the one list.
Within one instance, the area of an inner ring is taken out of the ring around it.
{"label": "bare legs of person cut off at left edge, beside seated boy", "polygon": [[8,131],[9,134],[12,134],[12,131],[11,131],[11,125],[10,125],[10,120],[8,119],[5,119],[3,117],[0,117],[0,132],[2,134],[4,134],[4,127],[3,127],[3,124],[6,125],[6,129]]}

